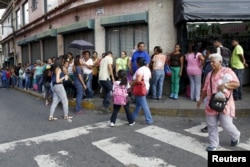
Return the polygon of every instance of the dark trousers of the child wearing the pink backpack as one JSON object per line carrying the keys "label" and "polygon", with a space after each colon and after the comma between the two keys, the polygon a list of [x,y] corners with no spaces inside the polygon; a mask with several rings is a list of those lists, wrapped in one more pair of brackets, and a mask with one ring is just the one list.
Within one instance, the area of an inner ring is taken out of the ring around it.
{"label": "dark trousers of the child wearing the pink backpack", "polygon": [[[116,104],[113,105],[113,113],[111,115],[110,122],[113,122],[115,124],[117,114],[120,111],[121,107],[122,107],[121,105],[116,105]],[[134,122],[134,119],[133,119],[132,114],[130,113],[130,110],[129,110],[129,102],[127,102],[127,104],[125,106],[123,106],[123,108],[126,112],[126,117],[127,117],[128,123],[132,124]]]}

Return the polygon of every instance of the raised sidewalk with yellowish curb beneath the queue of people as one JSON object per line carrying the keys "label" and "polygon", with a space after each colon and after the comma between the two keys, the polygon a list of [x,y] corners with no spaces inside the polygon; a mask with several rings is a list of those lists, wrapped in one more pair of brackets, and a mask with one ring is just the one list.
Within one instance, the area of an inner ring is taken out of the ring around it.
{"label": "raised sidewalk with yellowish curb beneath the queue of people", "polygon": [[[43,94],[39,94],[33,90],[24,90],[15,88],[16,90],[44,99]],[[250,116],[250,86],[243,87],[243,100],[235,101],[236,117]],[[75,101],[69,99],[69,105],[75,106]],[[153,115],[164,115],[170,117],[204,117],[204,104],[201,109],[196,109],[196,102],[189,100],[185,95],[180,95],[178,100],[172,100],[168,97],[163,97],[162,100],[148,99],[148,105]],[[102,98],[97,96],[93,101],[82,101],[83,108],[89,110],[101,110]],[[131,111],[135,105],[131,104]],[[112,110],[112,108],[110,108]]]}

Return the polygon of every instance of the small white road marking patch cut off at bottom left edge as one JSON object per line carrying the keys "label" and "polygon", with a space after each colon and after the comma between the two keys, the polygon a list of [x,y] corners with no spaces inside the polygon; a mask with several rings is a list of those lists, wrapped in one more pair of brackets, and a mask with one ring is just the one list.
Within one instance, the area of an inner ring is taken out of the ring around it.
{"label": "small white road marking patch cut off at bottom left edge", "polygon": [[61,162],[59,165],[58,160],[50,155],[38,155],[34,159],[39,167],[62,167]]}

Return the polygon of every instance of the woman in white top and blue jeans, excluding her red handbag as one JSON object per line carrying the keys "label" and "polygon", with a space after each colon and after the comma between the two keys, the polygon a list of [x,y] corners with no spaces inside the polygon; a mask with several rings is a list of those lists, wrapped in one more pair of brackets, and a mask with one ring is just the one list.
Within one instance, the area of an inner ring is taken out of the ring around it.
{"label": "woman in white top and blue jeans, excluding her red handbag", "polygon": [[[132,87],[135,85],[137,82],[141,82],[144,80],[145,85],[146,85],[146,90],[147,92],[149,91],[150,83],[149,80],[151,78],[151,71],[149,68],[146,66],[147,61],[143,57],[138,57],[136,59],[138,69],[136,70],[135,74],[133,75],[133,81],[131,83]],[[135,96],[135,109],[134,112],[132,113],[133,119],[136,120],[138,117],[138,113],[141,109],[143,109],[144,116],[145,116],[145,121],[146,124],[150,125],[153,124],[153,118],[151,116],[150,109],[148,107],[146,95],[145,96]]]}

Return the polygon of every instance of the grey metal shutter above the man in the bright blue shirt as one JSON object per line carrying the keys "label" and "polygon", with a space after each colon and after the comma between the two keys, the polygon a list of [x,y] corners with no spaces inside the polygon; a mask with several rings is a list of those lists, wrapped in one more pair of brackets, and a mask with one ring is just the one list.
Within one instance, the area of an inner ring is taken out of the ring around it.
{"label": "grey metal shutter above the man in the bright blue shirt", "polygon": [[112,51],[114,57],[119,57],[121,51],[126,51],[128,55],[131,55],[138,42],[148,45],[146,24],[106,28],[106,50]]}

